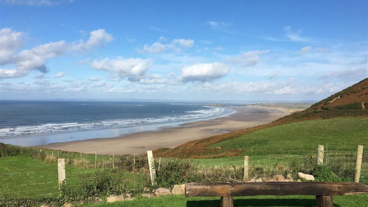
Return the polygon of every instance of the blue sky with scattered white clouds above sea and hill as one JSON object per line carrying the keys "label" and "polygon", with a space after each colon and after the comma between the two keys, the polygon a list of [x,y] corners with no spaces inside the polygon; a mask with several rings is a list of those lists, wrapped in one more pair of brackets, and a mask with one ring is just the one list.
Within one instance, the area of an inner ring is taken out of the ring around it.
{"label": "blue sky with scattered white clouds above sea and hill", "polygon": [[0,99],[321,100],[368,77],[367,10],[0,0]]}

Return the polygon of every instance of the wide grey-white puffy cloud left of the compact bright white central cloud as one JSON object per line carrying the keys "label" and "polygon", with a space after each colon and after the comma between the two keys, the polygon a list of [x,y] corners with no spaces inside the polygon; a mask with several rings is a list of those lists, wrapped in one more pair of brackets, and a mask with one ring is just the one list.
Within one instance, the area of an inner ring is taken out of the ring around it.
{"label": "wide grey-white puffy cloud left of the compact bright white central cloud", "polygon": [[94,60],[91,67],[97,70],[109,71],[114,78],[128,78],[129,81],[138,82],[142,78],[149,67],[152,66],[150,59],[128,58],[109,59],[106,57],[102,60]]}

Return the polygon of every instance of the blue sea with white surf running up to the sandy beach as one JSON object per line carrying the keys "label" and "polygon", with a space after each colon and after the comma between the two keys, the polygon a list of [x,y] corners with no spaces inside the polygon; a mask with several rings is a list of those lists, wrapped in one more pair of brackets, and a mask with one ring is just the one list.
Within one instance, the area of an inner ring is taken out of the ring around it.
{"label": "blue sea with white surf running up to the sandy beach", "polygon": [[0,100],[0,142],[34,146],[110,138],[231,113],[198,102]]}

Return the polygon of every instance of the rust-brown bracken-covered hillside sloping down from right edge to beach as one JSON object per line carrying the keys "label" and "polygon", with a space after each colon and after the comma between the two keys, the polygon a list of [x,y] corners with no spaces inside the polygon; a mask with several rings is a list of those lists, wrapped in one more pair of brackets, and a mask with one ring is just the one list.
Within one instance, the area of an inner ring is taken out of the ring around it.
{"label": "rust-brown bracken-covered hillside sloping down from right edge to beach", "polygon": [[267,127],[281,124],[301,122],[313,119],[334,117],[368,116],[368,78],[356,83],[330,97],[323,99],[306,110],[292,113],[271,123],[247,129],[232,131],[227,134],[190,141],[173,149],[159,148],[155,156],[177,158],[219,158],[241,154],[240,149],[209,148],[208,146],[223,140],[249,134]]}

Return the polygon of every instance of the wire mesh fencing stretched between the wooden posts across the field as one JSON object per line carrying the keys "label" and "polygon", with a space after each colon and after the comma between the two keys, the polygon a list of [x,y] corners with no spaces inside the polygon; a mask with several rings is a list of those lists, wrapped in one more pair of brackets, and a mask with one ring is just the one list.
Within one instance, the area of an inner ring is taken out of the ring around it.
{"label": "wire mesh fencing stretched between the wooden posts across the field", "polygon": [[[59,155],[60,156],[60,155]],[[61,157],[61,156],[60,156]],[[51,156],[53,160],[53,156]],[[79,158],[80,159],[80,158]],[[249,157],[244,180],[244,159],[228,162],[155,158],[159,186],[185,182],[244,182],[256,178],[297,173],[316,174],[319,180],[353,182],[357,173],[357,152],[324,152],[323,166],[317,169],[317,153],[253,159]],[[145,155],[116,156],[108,161],[66,161],[65,186],[69,195],[79,197],[142,192],[151,187],[148,158]],[[60,194],[58,166],[47,172],[19,171],[0,174],[0,200],[57,197]],[[319,173],[319,174],[318,174]],[[368,183],[368,153],[362,153],[360,182]],[[317,180],[318,180],[317,179]],[[264,180],[264,179],[263,179]]]}

